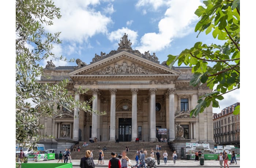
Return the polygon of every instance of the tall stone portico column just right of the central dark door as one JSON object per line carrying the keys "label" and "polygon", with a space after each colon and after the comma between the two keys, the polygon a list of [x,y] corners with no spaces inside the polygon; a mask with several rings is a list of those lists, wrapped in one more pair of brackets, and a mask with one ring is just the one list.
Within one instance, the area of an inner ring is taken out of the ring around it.
{"label": "tall stone portico column just right of the central dark door", "polygon": [[139,89],[131,89],[132,92],[132,140],[135,142],[137,138],[137,93]]}

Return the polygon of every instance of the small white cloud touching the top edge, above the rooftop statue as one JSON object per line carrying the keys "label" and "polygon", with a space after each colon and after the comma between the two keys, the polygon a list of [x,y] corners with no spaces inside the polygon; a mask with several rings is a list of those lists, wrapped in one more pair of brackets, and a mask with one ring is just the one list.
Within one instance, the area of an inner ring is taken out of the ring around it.
{"label": "small white cloud touching the top edge, above the rooftop statue", "polygon": [[[153,7],[154,10],[157,10],[162,5],[165,5],[167,3],[167,0],[139,0],[135,7],[141,8],[141,7]],[[146,10],[145,10],[146,11]]]}

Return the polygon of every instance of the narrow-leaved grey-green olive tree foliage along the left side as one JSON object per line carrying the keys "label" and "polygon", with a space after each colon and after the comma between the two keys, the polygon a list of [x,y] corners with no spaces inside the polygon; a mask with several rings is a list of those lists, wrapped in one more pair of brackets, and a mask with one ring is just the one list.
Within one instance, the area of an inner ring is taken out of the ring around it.
{"label": "narrow-leaved grey-green olive tree foliage along the left side", "polygon": [[[57,84],[37,83],[43,69],[39,65],[40,61],[48,57],[67,61],[51,52],[53,43],[61,43],[60,32],[47,33],[42,26],[52,25],[53,18],[59,19],[61,15],[60,8],[51,0],[16,0],[16,143],[37,142],[42,138],[39,136],[39,129],[44,128],[39,123],[39,118],[60,114],[61,107],[70,113],[75,108],[90,114],[105,113],[93,111],[90,107],[91,100],[74,100],[74,95],[67,90],[68,80]],[[34,49],[29,50],[27,44]],[[86,91],[78,89],[76,93],[84,94]]]}

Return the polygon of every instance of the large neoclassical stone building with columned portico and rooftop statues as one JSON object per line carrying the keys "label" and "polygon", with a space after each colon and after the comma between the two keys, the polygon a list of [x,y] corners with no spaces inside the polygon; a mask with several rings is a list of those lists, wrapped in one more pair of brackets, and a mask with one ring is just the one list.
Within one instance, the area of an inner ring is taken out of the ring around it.
{"label": "large neoclassical stone building with columned portico and rooftop statues", "polygon": [[61,116],[41,118],[46,127],[40,133],[54,135],[51,142],[56,140],[58,145],[94,137],[100,141],[135,141],[139,137],[151,142],[163,137],[174,144],[213,145],[212,107],[197,117],[189,117],[198,97],[211,92],[206,85],[189,85],[191,68],[170,69],[166,62],[159,64],[155,53],[133,50],[126,34],[118,45],[109,54],[95,54],[88,65],[79,59],[78,66],[55,67],[52,61],[48,62],[40,83],[57,83],[67,78],[70,92],[89,88],[87,94],[75,95],[75,99],[86,101],[94,97],[91,107],[106,111],[106,115],[79,112],[79,118],[74,118],[77,111],[70,114],[61,109]]}

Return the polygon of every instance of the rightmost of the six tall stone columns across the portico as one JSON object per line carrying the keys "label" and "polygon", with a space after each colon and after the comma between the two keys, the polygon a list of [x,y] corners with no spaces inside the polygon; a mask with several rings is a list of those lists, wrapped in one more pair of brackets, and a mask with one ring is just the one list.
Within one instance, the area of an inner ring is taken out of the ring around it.
{"label": "rightmost of the six tall stone columns across the portico", "polygon": [[174,93],[175,88],[168,89],[169,94],[169,141],[175,139],[175,114],[174,114]]}

